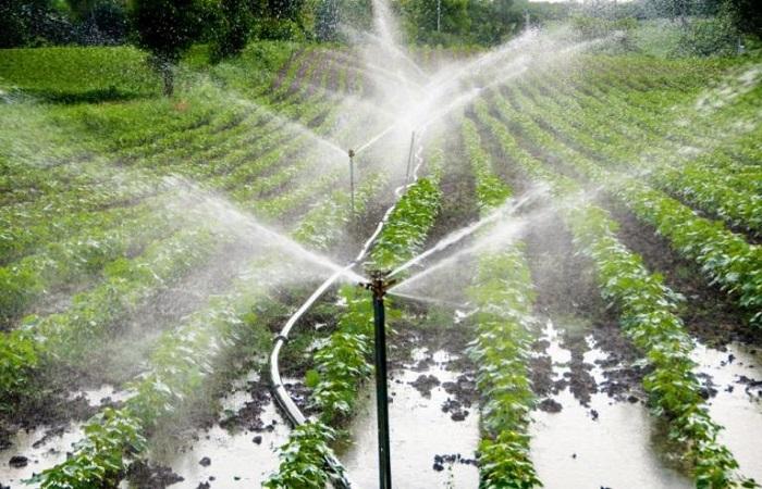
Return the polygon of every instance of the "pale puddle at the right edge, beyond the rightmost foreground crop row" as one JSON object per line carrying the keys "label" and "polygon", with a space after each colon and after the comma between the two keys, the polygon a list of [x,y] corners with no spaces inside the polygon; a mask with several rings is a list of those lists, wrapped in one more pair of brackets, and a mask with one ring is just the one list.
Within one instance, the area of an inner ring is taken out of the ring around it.
{"label": "pale puddle at the right edge, beyond the rightmost foreground crop row", "polygon": [[743,475],[762,481],[762,386],[747,392],[748,385],[739,383],[742,377],[762,380],[762,353],[738,343],[724,352],[697,344],[693,360],[717,389],[708,404],[712,419],[725,427],[720,441],[736,456]]}

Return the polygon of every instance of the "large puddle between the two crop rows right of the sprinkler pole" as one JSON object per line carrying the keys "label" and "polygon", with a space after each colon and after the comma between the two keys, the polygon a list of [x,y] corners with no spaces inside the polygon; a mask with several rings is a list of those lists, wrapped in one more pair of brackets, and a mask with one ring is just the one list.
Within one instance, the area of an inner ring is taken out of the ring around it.
{"label": "large puddle between the two crop rows right of the sprinkler pole", "polygon": [[[568,372],[572,354],[560,342],[558,331],[549,323],[543,338],[554,374]],[[588,344],[593,346],[591,338]],[[595,360],[606,353],[591,348],[586,363],[597,381],[603,371]],[[558,375],[554,375],[558,377]],[[532,413],[531,457],[546,489],[566,488],[649,488],[689,489],[691,480],[666,467],[651,441],[652,419],[640,403],[616,402],[605,393],[594,393],[590,406],[582,406],[567,389],[554,396],[560,413]],[[597,418],[592,411],[595,411]]]}

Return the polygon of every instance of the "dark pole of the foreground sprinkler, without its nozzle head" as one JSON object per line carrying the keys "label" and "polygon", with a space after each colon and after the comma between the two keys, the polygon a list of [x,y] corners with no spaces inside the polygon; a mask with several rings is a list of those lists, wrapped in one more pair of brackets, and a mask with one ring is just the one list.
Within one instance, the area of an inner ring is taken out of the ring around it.
{"label": "dark pole of the foreground sprinkler, without its nozzle head", "polygon": [[383,285],[373,290],[376,329],[376,409],[379,434],[380,489],[392,488],[392,463],[389,453],[389,393],[386,392],[386,330],[383,310]]}

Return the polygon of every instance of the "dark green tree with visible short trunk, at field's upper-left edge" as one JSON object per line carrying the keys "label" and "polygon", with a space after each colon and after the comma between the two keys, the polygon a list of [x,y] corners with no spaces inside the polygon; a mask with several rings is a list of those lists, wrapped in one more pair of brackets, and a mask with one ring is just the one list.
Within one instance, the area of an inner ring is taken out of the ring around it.
{"label": "dark green tree with visible short trunk, at field's upper-left edge", "polygon": [[164,83],[164,95],[174,92],[174,66],[204,33],[213,12],[208,0],[131,0],[130,20],[136,43],[151,53],[151,64]]}

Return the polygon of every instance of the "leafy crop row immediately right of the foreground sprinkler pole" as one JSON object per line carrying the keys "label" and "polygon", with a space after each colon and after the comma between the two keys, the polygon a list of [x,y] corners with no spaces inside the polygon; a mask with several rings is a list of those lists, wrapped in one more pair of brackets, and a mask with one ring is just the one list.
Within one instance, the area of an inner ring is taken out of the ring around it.
{"label": "leafy crop row immediately right of the foreground sprinkler pole", "polygon": [[[484,215],[512,192],[494,174],[474,122],[465,118],[462,131],[476,177],[477,202]],[[534,405],[528,368],[534,292],[520,244],[502,248],[480,253],[474,285],[467,290],[479,308],[477,336],[468,348],[478,368],[477,389],[482,399],[479,487],[531,488],[542,486],[529,455],[527,434]]]}

